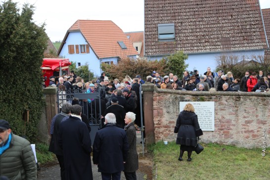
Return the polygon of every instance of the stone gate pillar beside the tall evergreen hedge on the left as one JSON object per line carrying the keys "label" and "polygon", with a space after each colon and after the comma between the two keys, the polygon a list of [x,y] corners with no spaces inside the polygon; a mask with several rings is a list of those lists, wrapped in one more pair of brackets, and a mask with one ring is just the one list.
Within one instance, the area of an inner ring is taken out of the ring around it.
{"label": "stone gate pillar beside the tall evergreen hedge on the left", "polygon": [[48,134],[48,143],[50,139],[50,124],[51,119],[55,114],[58,113],[57,111],[57,87],[49,86],[43,89],[45,94],[45,102],[46,102],[46,124],[47,124],[47,134]]}

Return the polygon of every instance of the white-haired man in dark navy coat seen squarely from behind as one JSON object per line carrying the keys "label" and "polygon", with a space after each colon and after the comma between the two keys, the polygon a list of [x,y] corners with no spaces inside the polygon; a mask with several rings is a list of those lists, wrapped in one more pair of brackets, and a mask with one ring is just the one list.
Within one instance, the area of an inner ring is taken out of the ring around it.
{"label": "white-haired man in dark navy coat seen squarely from behind", "polygon": [[120,180],[129,150],[124,129],[116,126],[113,113],[105,115],[105,125],[96,132],[93,143],[93,163],[98,166],[102,180]]}

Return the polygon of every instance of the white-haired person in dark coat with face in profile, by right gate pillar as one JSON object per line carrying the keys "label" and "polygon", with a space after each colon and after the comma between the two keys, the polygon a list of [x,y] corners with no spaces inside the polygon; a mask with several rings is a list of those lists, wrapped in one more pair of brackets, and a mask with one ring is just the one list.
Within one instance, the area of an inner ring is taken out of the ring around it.
{"label": "white-haired person in dark coat with face in profile, by right gate pillar", "polygon": [[136,114],[133,112],[127,112],[125,117],[125,123],[127,124],[127,126],[125,126],[125,130],[130,145],[128,157],[126,163],[124,164],[124,174],[126,180],[136,180],[136,170],[139,168],[138,154],[136,150],[136,129],[134,126],[135,115]]}

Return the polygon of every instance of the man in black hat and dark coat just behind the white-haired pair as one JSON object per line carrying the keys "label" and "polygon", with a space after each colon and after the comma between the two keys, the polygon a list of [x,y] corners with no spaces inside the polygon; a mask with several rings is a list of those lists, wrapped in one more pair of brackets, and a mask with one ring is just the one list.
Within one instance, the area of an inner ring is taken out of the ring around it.
{"label": "man in black hat and dark coat just behind the white-haired pair", "polygon": [[123,106],[118,105],[117,98],[113,98],[111,103],[112,105],[106,109],[104,114],[113,113],[116,117],[116,125],[124,129],[126,110]]}

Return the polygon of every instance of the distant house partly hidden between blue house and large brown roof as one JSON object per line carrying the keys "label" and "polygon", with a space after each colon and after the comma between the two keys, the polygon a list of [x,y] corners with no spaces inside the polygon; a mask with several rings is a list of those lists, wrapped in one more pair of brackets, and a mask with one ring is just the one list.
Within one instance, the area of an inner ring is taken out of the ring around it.
{"label": "distant house partly hidden between blue house and large brown roof", "polygon": [[143,52],[144,52],[144,38],[143,38],[143,31],[138,31],[138,32],[127,32],[125,33],[128,37],[128,39],[130,39],[131,43],[133,44],[134,48],[136,49],[136,51],[139,53],[139,57],[142,58],[143,57]]}

